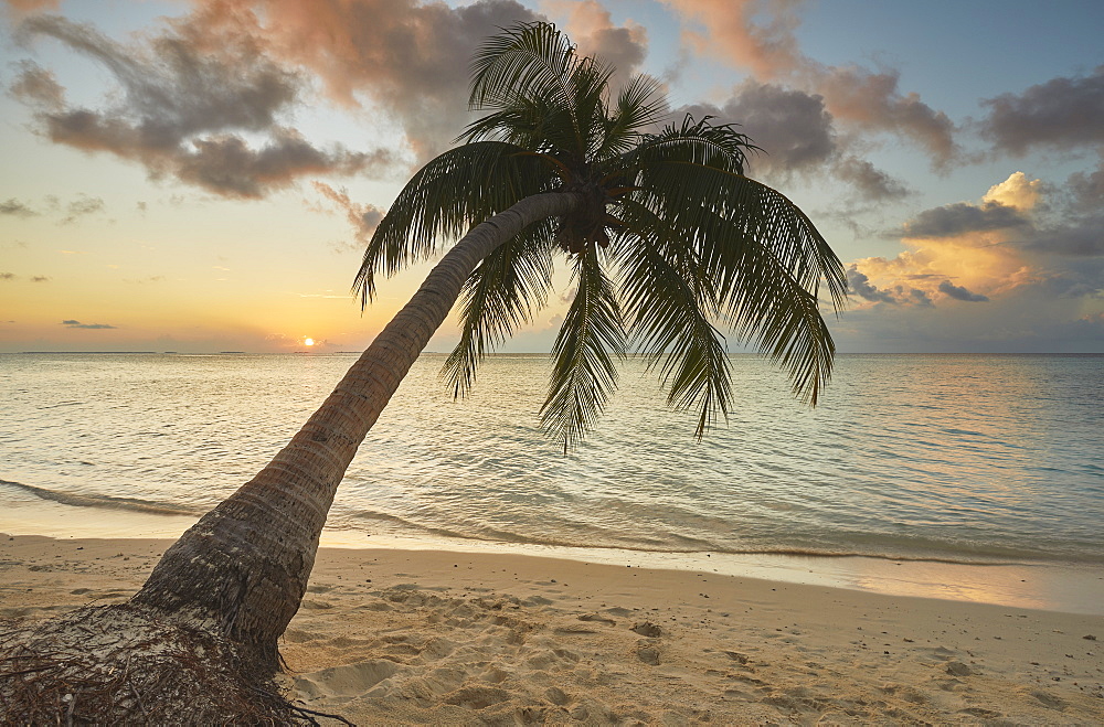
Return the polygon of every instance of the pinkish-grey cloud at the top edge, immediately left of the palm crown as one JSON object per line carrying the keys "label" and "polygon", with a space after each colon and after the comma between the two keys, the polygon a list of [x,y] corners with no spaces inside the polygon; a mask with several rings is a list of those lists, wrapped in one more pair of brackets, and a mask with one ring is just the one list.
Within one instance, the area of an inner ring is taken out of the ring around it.
{"label": "pinkish-grey cloud at the top edge, immediately left of the palm crown", "polygon": [[[246,18],[242,6],[257,13]],[[459,8],[416,0],[233,6],[208,0],[204,11],[257,39],[270,57],[308,70],[336,103],[361,107],[368,101],[384,111],[420,161],[443,151],[463,130],[474,51],[499,28],[539,18],[512,0]]]}

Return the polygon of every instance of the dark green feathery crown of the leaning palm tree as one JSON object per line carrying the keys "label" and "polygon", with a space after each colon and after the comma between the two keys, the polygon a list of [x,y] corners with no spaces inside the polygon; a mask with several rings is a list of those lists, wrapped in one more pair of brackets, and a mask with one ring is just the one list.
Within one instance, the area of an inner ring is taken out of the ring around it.
{"label": "dark green feathery crown of the leaning palm tree", "polygon": [[469,105],[487,114],[418,171],[380,223],[354,289],[367,304],[376,275],[433,256],[519,201],[571,192],[558,218],[530,224],[486,257],[461,293],[461,333],[445,363],[456,395],[476,365],[534,310],[565,254],[576,285],[552,350],[541,421],[569,449],[616,386],[613,359],[649,356],[668,403],[699,413],[697,436],[731,400],[725,340],[757,344],[816,404],[835,346],[820,316],[825,285],[838,310],[839,259],[809,218],[744,175],[756,148],[709,117],[658,132],[658,82],[633,79],[616,98],[612,68],[576,54],[554,25],[518,25],[489,40],[471,65]]}

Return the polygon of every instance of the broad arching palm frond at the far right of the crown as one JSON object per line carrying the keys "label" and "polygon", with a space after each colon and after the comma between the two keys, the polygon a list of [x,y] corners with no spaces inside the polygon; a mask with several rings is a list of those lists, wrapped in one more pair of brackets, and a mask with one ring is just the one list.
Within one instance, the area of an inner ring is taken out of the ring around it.
{"label": "broad arching palm frond at the far right of the crown", "polygon": [[837,309],[846,293],[842,265],[816,227],[785,196],[740,174],[677,161],[650,164],[641,177],[647,189],[634,201],[698,250],[718,314],[816,404],[835,355],[817,293],[826,284]]}

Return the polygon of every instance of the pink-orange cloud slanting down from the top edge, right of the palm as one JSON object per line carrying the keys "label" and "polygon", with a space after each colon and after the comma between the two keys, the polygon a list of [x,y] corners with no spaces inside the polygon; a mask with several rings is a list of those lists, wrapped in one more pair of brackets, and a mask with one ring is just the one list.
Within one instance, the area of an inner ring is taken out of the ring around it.
{"label": "pink-orange cloud slanting down from the top edge, right of the palm", "polygon": [[684,35],[702,54],[750,68],[760,82],[820,95],[834,117],[858,129],[884,131],[924,149],[945,169],[960,151],[951,119],[899,88],[900,74],[858,66],[828,66],[802,53],[794,31],[799,2],[664,0],[689,24]]}

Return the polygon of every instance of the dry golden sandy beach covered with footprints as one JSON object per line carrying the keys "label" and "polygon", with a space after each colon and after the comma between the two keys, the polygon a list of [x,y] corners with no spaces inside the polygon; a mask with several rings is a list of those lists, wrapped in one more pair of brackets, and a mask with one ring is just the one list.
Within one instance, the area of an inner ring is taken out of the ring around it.
{"label": "dry golden sandy beach covered with footprints", "polygon": [[[125,600],[169,544],[2,535],[0,617]],[[1098,616],[322,548],[282,678],[308,708],[359,725],[1090,725],[1104,721],[1100,640]]]}

